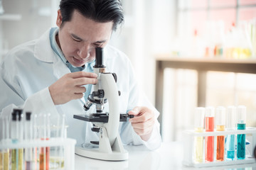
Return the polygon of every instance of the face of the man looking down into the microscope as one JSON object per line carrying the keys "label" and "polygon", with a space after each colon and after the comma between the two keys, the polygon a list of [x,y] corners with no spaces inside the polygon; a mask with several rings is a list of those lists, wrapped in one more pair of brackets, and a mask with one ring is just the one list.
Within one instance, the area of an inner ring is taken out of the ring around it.
{"label": "face of the man looking down into the microscope", "polygon": [[[60,10],[56,23],[58,27],[62,23]],[[107,45],[112,26],[112,22],[97,23],[75,10],[71,21],[61,26],[56,40],[68,62],[74,67],[81,67],[95,59],[95,47]]]}

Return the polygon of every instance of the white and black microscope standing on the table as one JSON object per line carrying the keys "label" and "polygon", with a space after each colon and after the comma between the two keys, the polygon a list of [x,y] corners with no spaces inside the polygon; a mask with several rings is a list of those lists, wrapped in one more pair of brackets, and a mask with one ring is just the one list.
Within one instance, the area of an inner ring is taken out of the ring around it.
{"label": "white and black microscope standing on the table", "polygon": [[[93,91],[88,96],[84,109],[88,111],[92,105],[95,105],[96,113],[74,115],[73,118],[93,124],[91,130],[98,133],[99,141],[91,141],[91,143],[99,147],[75,147],[75,153],[83,157],[107,161],[127,160],[128,152],[122,145],[118,128],[119,122],[126,122],[127,118],[133,118],[134,115],[119,113],[121,93],[117,89],[117,75],[105,72],[105,65],[102,64],[103,48],[96,47],[95,50],[94,72],[98,75],[98,83],[92,85]],[[106,104],[109,106],[109,113],[103,113]]]}

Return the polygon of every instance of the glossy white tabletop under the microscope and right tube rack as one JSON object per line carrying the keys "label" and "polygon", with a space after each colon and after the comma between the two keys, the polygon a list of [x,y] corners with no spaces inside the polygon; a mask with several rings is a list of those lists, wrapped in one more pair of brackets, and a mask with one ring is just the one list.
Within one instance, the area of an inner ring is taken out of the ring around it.
{"label": "glossy white tabletop under the microscope and right tube rack", "polygon": [[[124,146],[129,152],[129,159],[122,162],[107,162],[97,159],[90,159],[87,157],[81,157],[75,154],[75,170],[82,169],[93,169],[93,170],[155,170],[155,169],[196,169],[182,165],[183,159],[183,147],[178,142],[164,142],[161,147],[156,151],[149,151],[144,146]],[[215,166],[209,168],[201,168],[198,170],[205,169],[239,169],[239,170],[256,170],[255,164],[242,164],[233,166]]]}

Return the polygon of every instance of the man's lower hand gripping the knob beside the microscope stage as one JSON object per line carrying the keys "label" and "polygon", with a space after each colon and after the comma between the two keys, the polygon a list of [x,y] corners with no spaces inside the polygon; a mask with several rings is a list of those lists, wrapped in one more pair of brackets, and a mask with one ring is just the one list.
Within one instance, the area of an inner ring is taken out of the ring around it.
{"label": "man's lower hand gripping the knob beside the microscope stage", "polygon": [[132,123],[137,135],[142,137],[144,141],[149,140],[155,123],[153,111],[146,107],[135,107],[128,114],[134,115],[134,118],[129,119],[129,122]]}

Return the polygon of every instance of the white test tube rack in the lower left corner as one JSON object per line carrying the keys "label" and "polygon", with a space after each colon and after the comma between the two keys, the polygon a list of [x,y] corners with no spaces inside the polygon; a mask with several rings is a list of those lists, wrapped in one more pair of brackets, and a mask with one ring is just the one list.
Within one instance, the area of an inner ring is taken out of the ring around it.
{"label": "white test tube rack in the lower left corner", "polygon": [[[1,151],[9,149],[9,152],[11,152],[11,149],[26,149],[26,148],[36,148],[37,154],[39,153],[39,149],[42,147],[48,147],[50,149],[50,152],[54,152],[55,148],[62,148],[63,154],[61,159],[63,160],[61,162],[61,167],[52,167],[49,169],[75,169],[75,143],[76,140],[70,139],[70,138],[61,138],[61,137],[53,137],[49,140],[31,140],[31,141],[19,141],[16,143],[11,142],[11,140],[2,140],[0,142],[0,154]],[[24,153],[25,154],[25,153]],[[23,156],[23,159],[25,159],[25,156]],[[51,159],[51,154],[50,154]],[[23,160],[25,162],[25,160]],[[38,156],[36,159],[36,162],[38,162]],[[9,163],[11,164],[11,160],[9,160]],[[4,166],[3,162],[2,165]],[[24,169],[23,165],[23,168]],[[11,167],[11,165],[9,166]],[[33,168],[35,169],[35,168]],[[40,169],[37,167],[36,169]]]}

